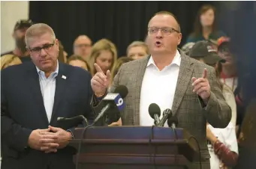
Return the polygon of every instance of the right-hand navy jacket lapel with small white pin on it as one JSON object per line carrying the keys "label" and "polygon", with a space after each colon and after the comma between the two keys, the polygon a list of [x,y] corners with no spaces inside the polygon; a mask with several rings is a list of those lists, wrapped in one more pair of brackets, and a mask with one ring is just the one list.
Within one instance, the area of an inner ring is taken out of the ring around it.
{"label": "right-hand navy jacket lapel with small white pin on it", "polygon": [[65,71],[64,64],[59,62],[59,73],[56,77],[56,89],[55,89],[55,96],[54,96],[54,103],[53,103],[53,112],[50,122],[53,121],[54,115],[56,115],[57,108],[59,106],[59,102],[61,102],[64,94],[64,89],[67,84],[68,80],[68,73]]}

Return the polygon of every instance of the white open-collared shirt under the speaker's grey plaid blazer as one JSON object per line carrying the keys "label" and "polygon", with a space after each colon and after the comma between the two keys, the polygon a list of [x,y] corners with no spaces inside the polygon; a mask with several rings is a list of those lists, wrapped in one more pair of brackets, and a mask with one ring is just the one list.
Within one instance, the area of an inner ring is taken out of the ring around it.
{"label": "white open-collared shirt under the speaker's grey plaid blazer", "polygon": [[[151,103],[159,105],[161,117],[165,109],[172,108],[180,62],[181,57],[178,50],[172,63],[161,71],[156,67],[152,56],[149,58],[140,93],[140,126],[154,125],[154,120],[149,115]],[[164,126],[168,126],[167,122]]]}

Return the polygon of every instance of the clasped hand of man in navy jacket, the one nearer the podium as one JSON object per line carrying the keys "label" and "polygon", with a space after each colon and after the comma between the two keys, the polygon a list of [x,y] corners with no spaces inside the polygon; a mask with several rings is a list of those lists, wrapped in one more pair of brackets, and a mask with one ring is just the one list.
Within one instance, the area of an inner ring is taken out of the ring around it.
{"label": "clasped hand of man in navy jacket, the one nearer the podium", "polygon": [[[54,135],[44,135],[43,138],[41,138],[41,141],[44,143],[47,143],[48,141],[53,141],[54,143],[59,144],[58,149],[62,149],[66,147],[69,143],[69,141],[72,139],[71,132],[67,132],[64,129],[49,126],[50,131],[54,132]],[[56,137],[57,136],[57,137]],[[45,153],[50,153],[52,151],[46,151]]]}

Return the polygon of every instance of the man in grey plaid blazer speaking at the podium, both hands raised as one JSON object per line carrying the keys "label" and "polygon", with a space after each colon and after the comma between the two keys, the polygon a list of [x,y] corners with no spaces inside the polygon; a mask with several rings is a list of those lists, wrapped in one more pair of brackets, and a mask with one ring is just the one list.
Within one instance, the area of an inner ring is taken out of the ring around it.
{"label": "man in grey plaid blazer speaking at the podium, both hands raised", "polygon": [[[128,87],[129,93],[124,99],[126,108],[120,119],[122,125],[153,125],[147,112],[152,102],[160,105],[161,111],[171,108],[179,120],[178,127],[187,129],[199,141],[201,154],[207,159],[202,167],[209,169],[206,121],[216,128],[224,128],[231,118],[215,70],[177,49],[182,36],[179,23],[171,13],[156,13],[149,21],[148,31],[151,55],[123,64],[111,87],[111,91],[121,84]],[[94,97],[99,99],[106,94],[110,72],[104,75],[98,65],[95,67],[98,73],[91,83]],[[97,104],[95,98],[94,105]],[[190,168],[200,167],[193,163]]]}

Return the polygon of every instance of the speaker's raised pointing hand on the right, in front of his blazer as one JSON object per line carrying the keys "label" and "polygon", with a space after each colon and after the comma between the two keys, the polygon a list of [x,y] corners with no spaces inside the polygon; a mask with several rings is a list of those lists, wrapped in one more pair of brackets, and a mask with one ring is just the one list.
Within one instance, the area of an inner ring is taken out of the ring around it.
{"label": "speaker's raised pointing hand on the right, in front of his blazer", "polygon": [[209,86],[209,81],[207,77],[206,68],[203,70],[203,76],[201,78],[196,79],[192,78],[192,86],[194,87],[193,92],[197,93],[203,99],[203,102],[207,103],[209,100],[209,96],[211,95],[211,87]]}

